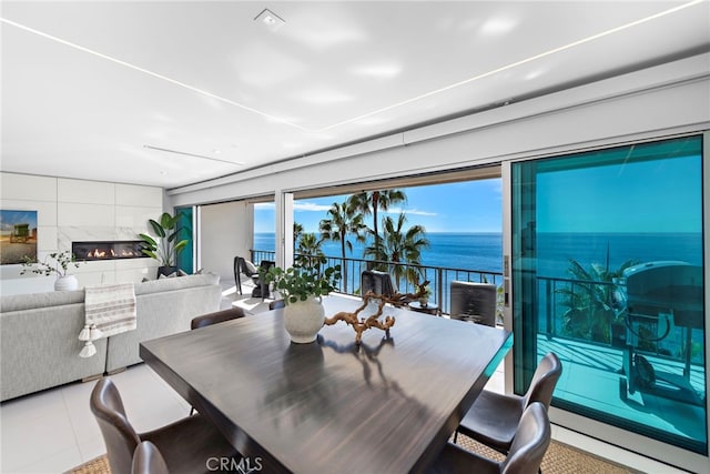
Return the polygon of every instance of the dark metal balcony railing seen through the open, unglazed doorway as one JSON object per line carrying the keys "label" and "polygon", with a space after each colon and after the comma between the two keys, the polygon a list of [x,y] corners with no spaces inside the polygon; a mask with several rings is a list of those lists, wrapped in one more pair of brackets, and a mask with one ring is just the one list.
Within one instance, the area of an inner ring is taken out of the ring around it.
{"label": "dark metal balcony railing seen through the open, unglazed doorway", "polygon": [[[252,250],[252,261],[258,264],[262,260],[274,260],[275,252],[264,250]],[[294,256],[298,258],[300,254]],[[416,288],[414,283],[406,279],[397,281],[394,278],[394,268],[399,266],[403,273],[407,270],[414,270],[419,275],[419,282],[428,280],[432,296],[429,302],[438,305],[443,314],[448,314],[450,309],[449,289],[450,283],[455,280],[477,283],[493,283],[498,286],[498,311],[499,321],[503,317],[503,273],[488,272],[470,269],[454,269],[443,266],[415,265],[409,263],[396,263],[377,260],[351,259],[342,256],[326,256],[327,266],[341,265],[343,279],[339,282],[342,293],[359,295],[361,274],[365,270],[377,269],[387,271],[393,275],[393,283],[399,293],[414,293]]]}

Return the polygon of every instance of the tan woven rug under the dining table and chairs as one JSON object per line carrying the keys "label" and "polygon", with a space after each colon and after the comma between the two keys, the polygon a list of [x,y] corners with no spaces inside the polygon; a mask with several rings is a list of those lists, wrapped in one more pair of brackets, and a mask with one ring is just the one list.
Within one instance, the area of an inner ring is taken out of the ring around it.
{"label": "tan woven rug under the dining table and chairs", "polygon": [[[459,435],[458,444],[467,450],[474,451],[483,456],[503,460],[504,456],[471,438]],[[584,453],[566,444],[552,441],[545,454],[542,465],[544,474],[636,474],[637,471],[613,464],[589,453]],[[99,456],[71,471],[69,474],[111,474],[109,460],[106,456]]]}

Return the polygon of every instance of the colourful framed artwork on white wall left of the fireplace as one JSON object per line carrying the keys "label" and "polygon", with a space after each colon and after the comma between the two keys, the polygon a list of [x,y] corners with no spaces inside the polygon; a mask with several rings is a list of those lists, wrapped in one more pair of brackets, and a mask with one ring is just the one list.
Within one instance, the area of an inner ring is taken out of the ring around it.
{"label": "colourful framed artwork on white wall left of the fireplace", "polygon": [[0,265],[37,260],[37,211],[0,210]]}

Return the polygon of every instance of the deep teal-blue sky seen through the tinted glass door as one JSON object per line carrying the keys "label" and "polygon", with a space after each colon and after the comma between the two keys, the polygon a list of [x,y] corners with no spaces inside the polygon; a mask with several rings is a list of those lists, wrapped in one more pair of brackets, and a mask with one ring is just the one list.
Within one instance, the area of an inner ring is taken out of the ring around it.
{"label": "deep teal-blue sky seen through the tinted glass door", "polygon": [[540,173],[537,230],[700,232],[700,170],[697,155]]}

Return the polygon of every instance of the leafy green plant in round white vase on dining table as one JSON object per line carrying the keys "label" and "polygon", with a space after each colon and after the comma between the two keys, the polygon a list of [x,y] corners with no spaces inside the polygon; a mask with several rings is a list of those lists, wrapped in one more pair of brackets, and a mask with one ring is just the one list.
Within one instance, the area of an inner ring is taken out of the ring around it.
{"label": "leafy green plant in round white vase on dining table", "polygon": [[341,265],[321,271],[321,265],[326,263],[325,256],[320,259],[320,263],[294,265],[286,270],[272,266],[260,274],[260,279],[273,284],[284,299],[284,326],[295,343],[315,341],[325,321],[321,297],[334,291],[341,280]]}

